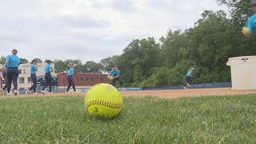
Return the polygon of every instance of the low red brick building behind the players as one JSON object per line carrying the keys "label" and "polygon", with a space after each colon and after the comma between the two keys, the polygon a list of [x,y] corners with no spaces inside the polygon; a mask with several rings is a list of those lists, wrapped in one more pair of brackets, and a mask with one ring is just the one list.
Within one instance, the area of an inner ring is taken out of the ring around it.
{"label": "low red brick building behind the players", "polygon": [[[69,85],[67,82],[67,73],[58,73],[58,88],[63,88]],[[80,73],[74,74],[73,80],[77,88],[88,88],[98,83],[107,83],[107,74],[90,74]]]}

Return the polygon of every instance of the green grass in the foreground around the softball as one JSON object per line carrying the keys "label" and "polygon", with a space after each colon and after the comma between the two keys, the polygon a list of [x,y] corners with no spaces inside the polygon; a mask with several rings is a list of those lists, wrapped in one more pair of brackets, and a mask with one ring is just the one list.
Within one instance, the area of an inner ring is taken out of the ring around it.
{"label": "green grass in the foreground around the softball", "polygon": [[0,143],[255,143],[256,95],[125,98],[112,120],[82,97],[0,98]]}

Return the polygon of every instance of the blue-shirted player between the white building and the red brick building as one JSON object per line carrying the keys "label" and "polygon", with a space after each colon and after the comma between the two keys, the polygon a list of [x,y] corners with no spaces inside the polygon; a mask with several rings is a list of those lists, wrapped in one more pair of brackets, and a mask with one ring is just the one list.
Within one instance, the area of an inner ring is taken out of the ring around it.
{"label": "blue-shirted player between the white building and the red brick building", "polygon": [[54,93],[51,92],[52,78],[51,78],[51,74],[50,74],[51,72],[54,71],[54,69],[51,67],[52,61],[47,60],[46,62],[47,62],[47,65],[45,66],[46,85],[42,88],[41,92],[42,92],[42,94],[46,94],[45,89],[46,89],[47,86],[49,86],[49,94],[54,94]]}

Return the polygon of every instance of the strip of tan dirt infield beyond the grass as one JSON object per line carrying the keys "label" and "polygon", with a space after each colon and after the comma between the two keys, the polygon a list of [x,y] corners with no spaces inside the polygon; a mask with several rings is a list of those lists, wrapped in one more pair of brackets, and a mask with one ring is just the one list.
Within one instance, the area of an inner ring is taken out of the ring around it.
{"label": "strip of tan dirt infield beyond the grass", "polygon": [[[160,98],[182,98],[182,97],[200,97],[200,96],[218,96],[218,95],[236,95],[236,94],[256,94],[256,90],[251,91],[235,91],[230,88],[224,89],[191,89],[191,90],[142,90],[142,91],[121,91],[123,97],[140,97],[140,96],[155,96]],[[85,96],[81,94],[39,94],[34,96],[18,95],[18,96],[0,96],[0,98],[27,98],[27,97],[52,97],[52,96]]]}

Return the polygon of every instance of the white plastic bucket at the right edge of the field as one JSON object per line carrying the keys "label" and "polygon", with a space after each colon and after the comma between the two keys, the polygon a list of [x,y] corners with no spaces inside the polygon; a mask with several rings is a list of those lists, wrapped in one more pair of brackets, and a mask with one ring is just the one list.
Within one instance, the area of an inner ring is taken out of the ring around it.
{"label": "white plastic bucket at the right edge of the field", "polygon": [[232,90],[256,90],[256,56],[229,58]]}

